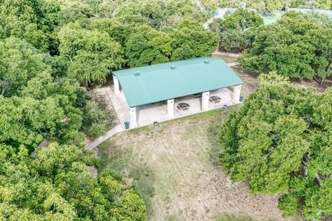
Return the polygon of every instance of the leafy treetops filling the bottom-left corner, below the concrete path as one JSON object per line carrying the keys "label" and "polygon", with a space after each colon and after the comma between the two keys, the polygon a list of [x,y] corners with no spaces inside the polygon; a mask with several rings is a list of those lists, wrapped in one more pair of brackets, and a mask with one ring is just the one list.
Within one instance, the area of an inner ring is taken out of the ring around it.
{"label": "leafy treetops filling the bottom-left corner, below the concrete path", "polygon": [[6,220],[146,220],[145,204],[111,171],[93,177],[94,157],[50,144],[28,155],[0,144],[0,215]]}

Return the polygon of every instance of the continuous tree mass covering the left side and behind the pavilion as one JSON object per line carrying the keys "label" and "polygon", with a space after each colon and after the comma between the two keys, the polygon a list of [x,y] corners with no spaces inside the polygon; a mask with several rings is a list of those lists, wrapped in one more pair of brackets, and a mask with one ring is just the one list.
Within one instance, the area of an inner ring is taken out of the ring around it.
{"label": "continuous tree mass covering the left side and behind the pavilion", "polygon": [[209,16],[190,0],[0,0],[1,220],[146,220],[131,181],[95,175],[82,151],[107,128],[86,88],[111,70],[210,55]]}

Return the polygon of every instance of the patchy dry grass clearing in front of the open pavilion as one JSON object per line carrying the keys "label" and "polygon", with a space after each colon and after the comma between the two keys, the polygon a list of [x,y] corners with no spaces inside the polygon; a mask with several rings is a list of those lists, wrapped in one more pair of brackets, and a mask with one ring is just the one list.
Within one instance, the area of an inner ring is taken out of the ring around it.
{"label": "patchy dry grass clearing in front of the open pavilion", "polygon": [[147,204],[149,220],[218,221],[223,213],[282,220],[277,196],[250,194],[246,182],[232,184],[216,165],[219,129],[225,116],[237,108],[111,137],[98,146],[100,171],[110,168],[133,179]]}

